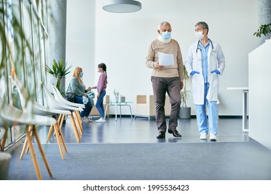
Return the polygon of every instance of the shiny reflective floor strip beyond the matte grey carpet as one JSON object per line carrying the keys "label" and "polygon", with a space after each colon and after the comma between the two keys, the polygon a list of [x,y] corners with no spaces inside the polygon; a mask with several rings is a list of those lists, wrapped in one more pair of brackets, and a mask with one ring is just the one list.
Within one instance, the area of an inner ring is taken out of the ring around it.
{"label": "shiny reflective floor strip beyond the matte grey carpet", "polygon": [[[168,119],[167,119],[168,124]],[[242,142],[248,141],[248,133],[242,132],[242,119],[220,118],[217,142]],[[40,130],[42,143],[46,143],[49,127]],[[199,139],[197,122],[195,118],[179,119],[177,130],[182,134],[181,138],[174,138],[172,134],[166,134],[165,139],[156,139],[157,127],[154,119],[131,117],[107,118],[106,123],[83,123],[83,135],[80,143],[200,143],[210,142],[208,139]],[[77,143],[72,129],[72,123],[67,118],[62,127],[65,143]],[[52,136],[49,143],[56,143]]]}

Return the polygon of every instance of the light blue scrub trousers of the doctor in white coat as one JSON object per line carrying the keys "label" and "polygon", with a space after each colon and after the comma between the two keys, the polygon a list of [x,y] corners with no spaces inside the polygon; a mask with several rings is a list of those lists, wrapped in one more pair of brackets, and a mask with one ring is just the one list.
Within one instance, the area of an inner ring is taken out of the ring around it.
{"label": "light blue scrub trousers of the doctor in white coat", "polygon": [[[202,134],[203,132],[206,132],[206,134],[208,134],[209,130],[211,134],[216,135],[218,123],[217,101],[210,102],[209,100],[206,99],[209,86],[210,86],[209,83],[204,84],[204,105],[196,105],[197,127],[199,129],[199,134]],[[209,121],[207,121],[207,116]]]}

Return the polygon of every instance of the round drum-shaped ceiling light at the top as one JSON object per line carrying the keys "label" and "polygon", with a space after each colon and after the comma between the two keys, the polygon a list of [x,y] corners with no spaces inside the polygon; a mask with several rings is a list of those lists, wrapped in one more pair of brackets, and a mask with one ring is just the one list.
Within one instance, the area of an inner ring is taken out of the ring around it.
{"label": "round drum-shaped ceiling light at the top", "polygon": [[141,3],[133,0],[105,0],[103,9],[108,12],[136,12],[141,9]]}

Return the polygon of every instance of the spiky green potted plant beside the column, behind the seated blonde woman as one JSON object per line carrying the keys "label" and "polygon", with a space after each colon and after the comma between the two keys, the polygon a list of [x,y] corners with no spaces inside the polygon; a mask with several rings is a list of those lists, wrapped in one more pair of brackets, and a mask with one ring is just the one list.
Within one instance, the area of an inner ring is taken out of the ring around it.
{"label": "spiky green potted plant beside the column, behind the seated blonde woman", "polygon": [[63,95],[65,94],[65,88],[60,87],[60,81],[64,76],[66,76],[70,72],[69,69],[71,67],[72,66],[67,67],[67,62],[63,64],[63,59],[61,59],[60,62],[56,62],[56,60],[54,60],[54,63],[51,68],[48,65],[46,65],[46,71],[56,78],[56,88]]}

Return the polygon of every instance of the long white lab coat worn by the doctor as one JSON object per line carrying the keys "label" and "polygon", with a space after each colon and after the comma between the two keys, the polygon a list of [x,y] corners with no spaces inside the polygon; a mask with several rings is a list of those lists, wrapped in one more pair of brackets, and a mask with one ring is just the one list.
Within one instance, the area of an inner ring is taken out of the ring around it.
{"label": "long white lab coat worn by the doctor", "polygon": [[[196,105],[204,105],[204,78],[202,76],[202,60],[197,58],[197,43],[192,44],[188,50],[188,55],[186,58],[185,66],[186,71],[188,71],[188,76],[190,76],[191,71],[198,71],[192,76],[192,95],[193,101]],[[198,52],[200,52],[198,50]],[[208,94],[206,96],[209,101],[218,102],[218,89],[219,89],[219,76],[223,74],[225,67],[225,59],[220,45],[216,42],[212,44],[210,42],[208,49],[208,82],[210,87],[208,89]],[[211,71],[217,69],[220,71],[220,75],[217,73],[211,73]]]}

